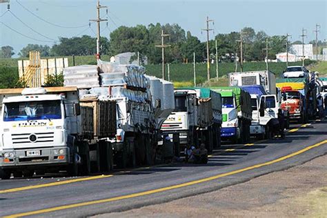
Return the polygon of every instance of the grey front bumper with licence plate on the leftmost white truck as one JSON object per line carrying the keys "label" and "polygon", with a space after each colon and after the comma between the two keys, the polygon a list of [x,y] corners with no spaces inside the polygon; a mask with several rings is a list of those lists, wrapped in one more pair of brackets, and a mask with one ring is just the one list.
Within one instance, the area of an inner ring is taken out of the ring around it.
{"label": "grey front bumper with licence plate on the leftmost white truck", "polygon": [[68,147],[5,149],[0,152],[0,168],[46,168],[70,163]]}

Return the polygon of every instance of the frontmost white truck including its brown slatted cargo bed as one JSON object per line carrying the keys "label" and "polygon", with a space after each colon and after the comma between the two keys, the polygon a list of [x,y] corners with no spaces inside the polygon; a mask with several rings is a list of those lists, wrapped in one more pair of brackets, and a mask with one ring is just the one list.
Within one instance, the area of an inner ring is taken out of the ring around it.
{"label": "frontmost white truck including its brown slatted cargo bed", "polygon": [[1,89],[0,93],[1,179],[11,174],[31,177],[34,172],[65,170],[76,176],[110,170],[107,138],[115,136],[116,117],[102,112],[114,110],[115,102],[97,100],[93,102],[97,110],[81,108],[76,87]]}

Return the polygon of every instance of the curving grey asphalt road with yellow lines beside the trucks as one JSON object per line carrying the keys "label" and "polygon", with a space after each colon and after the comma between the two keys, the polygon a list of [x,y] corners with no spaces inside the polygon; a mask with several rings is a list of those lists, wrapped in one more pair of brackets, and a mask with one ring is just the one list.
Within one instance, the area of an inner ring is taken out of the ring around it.
{"label": "curving grey asphalt road with yellow lines beside the trucks", "polygon": [[286,139],[224,145],[206,165],[171,164],[94,177],[0,180],[0,217],[83,217],[217,190],[324,155],[326,123],[291,125]]}

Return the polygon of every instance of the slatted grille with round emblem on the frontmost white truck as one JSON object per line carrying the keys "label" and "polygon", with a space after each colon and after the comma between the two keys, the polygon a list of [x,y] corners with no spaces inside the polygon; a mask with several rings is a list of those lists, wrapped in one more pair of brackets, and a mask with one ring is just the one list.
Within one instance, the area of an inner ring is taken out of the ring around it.
{"label": "slatted grille with round emblem on the frontmost white truck", "polygon": [[12,134],[12,143],[43,143],[53,142],[54,132]]}

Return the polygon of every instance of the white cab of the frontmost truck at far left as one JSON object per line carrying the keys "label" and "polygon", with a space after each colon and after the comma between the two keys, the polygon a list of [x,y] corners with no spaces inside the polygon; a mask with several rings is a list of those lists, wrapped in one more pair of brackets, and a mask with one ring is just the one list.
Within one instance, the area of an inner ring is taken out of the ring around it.
{"label": "white cab of the frontmost truck at far left", "polygon": [[[18,92],[17,92],[18,91]],[[1,90],[0,168],[20,169],[65,166],[70,163],[72,141],[78,132],[76,88]],[[30,171],[30,172],[34,172]]]}

